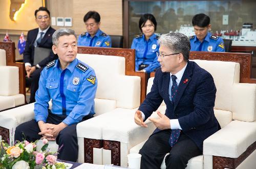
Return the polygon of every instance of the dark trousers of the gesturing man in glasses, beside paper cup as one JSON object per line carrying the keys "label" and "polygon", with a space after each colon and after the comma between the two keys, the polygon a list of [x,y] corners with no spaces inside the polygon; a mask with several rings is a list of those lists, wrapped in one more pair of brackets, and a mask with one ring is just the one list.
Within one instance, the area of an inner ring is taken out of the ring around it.
{"label": "dark trousers of the gesturing man in glasses, beside paper cup", "polygon": [[170,153],[165,158],[166,169],[184,169],[190,158],[202,154],[193,140],[183,132],[173,148],[168,143],[169,137],[170,130],[163,130],[148,138],[139,152],[142,155],[141,169],[160,168],[166,153]]}

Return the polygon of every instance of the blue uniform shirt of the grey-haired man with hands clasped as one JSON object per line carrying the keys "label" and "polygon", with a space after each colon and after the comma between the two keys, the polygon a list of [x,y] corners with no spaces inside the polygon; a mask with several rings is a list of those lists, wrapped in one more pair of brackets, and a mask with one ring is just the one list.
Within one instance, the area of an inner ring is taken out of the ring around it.
{"label": "blue uniform shirt of the grey-haired man with hands clasped", "polygon": [[84,116],[94,115],[94,98],[97,79],[94,70],[75,59],[61,70],[59,60],[50,62],[41,72],[39,88],[35,95],[35,120],[46,122],[48,102],[52,99],[51,112],[67,115],[63,123],[78,123]]}

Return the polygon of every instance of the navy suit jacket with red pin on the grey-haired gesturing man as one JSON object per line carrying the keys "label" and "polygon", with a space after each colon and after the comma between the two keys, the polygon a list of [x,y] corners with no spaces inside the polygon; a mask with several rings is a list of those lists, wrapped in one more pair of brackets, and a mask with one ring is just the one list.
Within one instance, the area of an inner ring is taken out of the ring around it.
{"label": "navy suit jacket with red pin on the grey-haired gesturing man", "polygon": [[[219,129],[219,123],[214,115],[214,79],[195,62],[188,61],[174,103],[169,100],[169,82],[170,74],[158,69],[151,92],[147,94],[139,110],[144,113],[146,120],[164,100],[165,115],[169,119],[178,119],[183,133],[202,150],[204,139]],[[154,133],[159,131],[157,128]]]}

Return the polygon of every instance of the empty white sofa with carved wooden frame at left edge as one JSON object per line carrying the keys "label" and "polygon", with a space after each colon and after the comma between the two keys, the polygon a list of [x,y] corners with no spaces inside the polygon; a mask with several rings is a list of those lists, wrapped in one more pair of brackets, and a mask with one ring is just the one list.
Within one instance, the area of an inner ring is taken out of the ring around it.
{"label": "empty white sofa with carved wooden frame at left edge", "polygon": [[0,49],[0,111],[25,104],[25,96],[19,94],[19,68],[6,66],[6,51]]}

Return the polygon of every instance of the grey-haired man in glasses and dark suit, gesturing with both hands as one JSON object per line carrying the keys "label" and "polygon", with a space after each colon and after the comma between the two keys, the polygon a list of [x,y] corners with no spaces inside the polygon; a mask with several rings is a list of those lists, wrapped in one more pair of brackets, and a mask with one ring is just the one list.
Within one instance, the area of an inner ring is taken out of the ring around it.
{"label": "grey-haired man in glasses and dark suit, gesturing with both hands", "polygon": [[140,150],[141,168],[185,168],[188,160],[202,154],[203,141],[219,129],[214,115],[214,79],[195,62],[188,61],[190,42],[180,33],[159,38],[157,69],[151,92],[135,113],[135,123],[144,121],[164,100],[165,115],[149,118],[157,129]]}

